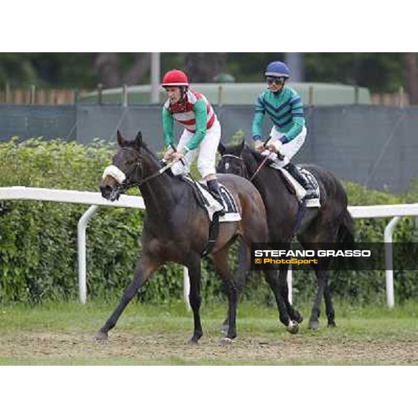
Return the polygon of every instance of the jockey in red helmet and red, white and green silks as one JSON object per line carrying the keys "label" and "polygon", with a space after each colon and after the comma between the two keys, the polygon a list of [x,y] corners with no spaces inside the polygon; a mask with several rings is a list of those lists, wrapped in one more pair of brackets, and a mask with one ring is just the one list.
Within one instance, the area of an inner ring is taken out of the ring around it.
{"label": "jockey in red helmet and red, white and green silks", "polygon": [[[180,70],[167,72],[162,79],[162,87],[168,95],[168,100],[162,108],[164,143],[167,147],[164,159],[177,161],[171,167],[171,171],[178,176],[189,173],[190,164],[194,157],[199,155],[197,169],[203,180],[206,180],[210,193],[223,208],[215,171],[221,125],[210,102],[201,93],[189,89],[187,75]],[[176,152],[173,150],[174,121],[185,127]],[[183,165],[179,160],[183,160],[185,164]],[[219,208],[219,212],[222,215],[223,209]]]}

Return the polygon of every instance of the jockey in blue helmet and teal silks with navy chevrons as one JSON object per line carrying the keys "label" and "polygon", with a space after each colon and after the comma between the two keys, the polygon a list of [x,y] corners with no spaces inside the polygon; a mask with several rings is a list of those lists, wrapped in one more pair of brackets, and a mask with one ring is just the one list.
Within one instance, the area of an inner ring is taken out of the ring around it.
{"label": "jockey in blue helmet and teal silks with navy chevrons", "polygon": [[[311,185],[299,169],[291,163],[291,158],[304,144],[307,128],[303,114],[303,104],[300,95],[293,88],[286,86],[291,77],[288,66],[281,61],[268,64],[265,73],[268,89],[258,96],[256,101],[254,119],[252,123],[252,139],[254,149],[260,153],[268,154],[272,151],[271,159],[277,167],[286,169],[288,173],[306,190],[304,199],[317,197]],[[268,114],[273,123],[265,150],[261,141],[261,126],[265,114]],[[284,156],[284,160],[277,158],[277,152]]]}

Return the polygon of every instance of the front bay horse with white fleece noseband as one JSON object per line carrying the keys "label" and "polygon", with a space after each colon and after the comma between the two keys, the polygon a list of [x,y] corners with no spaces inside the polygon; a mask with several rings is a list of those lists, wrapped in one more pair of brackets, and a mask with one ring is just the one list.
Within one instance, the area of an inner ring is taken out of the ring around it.
{"label": "front bay horse with white fleece noseband", "polygon": [[[118,199],[128,188],[137,186],[146,204],[142,232],[143,252],[134,270],[132,283],[125,288],[121,301],[98,332],[97,339],[107,339],[127,304],[144,285],[150,275],[163,263],[173,261],[189,269],[189,302],[194,317],[194,332],[190,343],[197,343],[203,332],[199,309],[201,305],[201,254],[208,243],[209,219],[199,206],[190,185],[160,173],[162,166],[142,141],[141,132],[134,141],[125,140],[118,132],[119,147],[112,166],[104,171],[100,184],[102,196]],[[109,169],[109,170],[108,170]],[[265,207],[258,190],[245,178],[231,174],[219,176],[237,203],[242,219],[219,224],[219,235],[211,256],[215,270],[222,277],[229,301],[229,327],[222,342],[236,336],[235,316],[241,276],[249,270],[251,242],[265,242],[268,238]],[[234,239],[240,237],[240,266],[235,280],[229,270],[228,251]],[[273,285],[271,285],[273,286]]]}

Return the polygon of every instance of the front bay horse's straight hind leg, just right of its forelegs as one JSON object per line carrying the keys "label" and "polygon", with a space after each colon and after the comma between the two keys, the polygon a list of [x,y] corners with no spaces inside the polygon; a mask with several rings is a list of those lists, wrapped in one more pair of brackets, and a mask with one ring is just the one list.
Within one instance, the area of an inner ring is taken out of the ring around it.
{"label": "front bay horse's straight hind leg, just right of its forelegs", "polygon": [[212,254],[212,258],[215,270],[224,281],[225,291],[228,297],[228,317],[225,320],[225,323],[228,325],[228,330],[226,331],[226,336],[221,340],[222,343],[227,343],[237,336],[236,311],[238,297],[242,288],[239,287],[240,280],[238,280],[238,284],[235,284],[233,276],[229,271],[228,248],[224,247],[220,249],[215,254]]}

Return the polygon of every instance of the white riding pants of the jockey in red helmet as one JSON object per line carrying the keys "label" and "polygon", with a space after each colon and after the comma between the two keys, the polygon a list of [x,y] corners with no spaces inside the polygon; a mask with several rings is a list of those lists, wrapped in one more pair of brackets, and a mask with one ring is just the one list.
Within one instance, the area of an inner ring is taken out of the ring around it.
{"label": "white riding pants of the jockey in red helmet", "polygon": [[[185,146],[190,141],[190,139],[192,139],[193,135],[194,134],[192,132],[189,132],[185,129],[180,137],[180,141],[178,141],[177,149],[184,150]],[[221,125],[219,121],[215,121],[212,127],[206,131],[206,135],[202,139],[200,145],[185,155],[183,158],[185,165],[183,165],[181,161],[173,164],[171,171],[173,171],[174,176],[178,176],[179,174],[186,175],[189,173],[190,165],[192,164],[196,155],[199,155],[197,160],[197,169],[199,170],[202,178],[209,176],[209,174],[215,174],[216,153],[220,139]]]}

